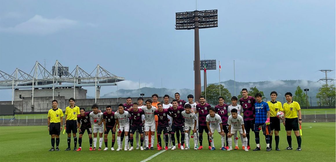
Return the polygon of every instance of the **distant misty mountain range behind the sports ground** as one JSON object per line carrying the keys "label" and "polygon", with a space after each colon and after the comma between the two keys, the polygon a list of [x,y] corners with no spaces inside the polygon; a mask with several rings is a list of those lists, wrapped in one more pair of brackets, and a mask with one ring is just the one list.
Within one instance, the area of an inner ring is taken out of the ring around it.
{"label": "distant misty mountain range behind the sports ground", "polygon": [[[221,82],[225,88],[229,90],[232,95],[235,95],[235,82],[234,80],[227,80],[225,82]],[[209,85],[209,84],[208,84]],[[218,85],[218,83],[215,83]],[[286,92],[294,92],[296,87],[300,86],[302,89],[309,88],[308,96],[315,97],[318,89],[321,87],[320,83],[309,81],[309,80],[275,80],[275,81],[263,81],[263,82],[236,82],[236,96],[240,94],[240,91],[243,88],[257,87],[260,91],[263,91],[265,96],[268,97],[271,91],[277,91],[279,97],[283,97]],[[202,86],[203,91],[203,86]],[[181,95],[181,99],[186,100],[186,96],[188,94],[194,94],[194,90],[191,89],[166,89],[163,88],[149,88],[144,87],[140,89],[140,93],[145,94],[145,97],[151,97],[152,94],[158,94],[159,96],[168,94],[169,96],[174,98],[174,94],[178,92]],[[139,96],[139,89],[136,90],[118,90],[118,97],[137,97]],[[117,92],[107,93],[101,98],[116,98]],[[87,96],[89,98],[89,96]],[[92,98],[92,97],[90,97]]]}

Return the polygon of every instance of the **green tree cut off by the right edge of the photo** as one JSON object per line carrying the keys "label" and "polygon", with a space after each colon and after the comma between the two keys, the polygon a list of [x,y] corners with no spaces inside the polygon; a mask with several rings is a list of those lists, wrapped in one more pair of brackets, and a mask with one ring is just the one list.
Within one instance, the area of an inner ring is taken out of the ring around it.
{"label": "green tree cut off by the right edge of the photo", "polygon": [[321,106],[335,106],[335,94],[335,85],[324,84],[321,88],[319,88],[316,98],[320,99]]}

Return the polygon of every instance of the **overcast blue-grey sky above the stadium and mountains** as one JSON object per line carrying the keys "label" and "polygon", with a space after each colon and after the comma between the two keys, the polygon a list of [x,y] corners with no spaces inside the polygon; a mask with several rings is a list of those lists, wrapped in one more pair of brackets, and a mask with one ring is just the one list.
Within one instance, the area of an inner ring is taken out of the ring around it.
{"label": "overcast blue-grey sky above the stadium and mountains", "polygon": [[[119,89],[137,89],[139,78],[141,87],[161,88],[162,78],[165,88],[194,89],[194,31],[174,25],[175,12],[195,9],[195,0],[1,0],[0,70],[29,73],[45,59],[49,70],[58,60],[90,73],[99,64],[125,77]],[[221,81],[234,79],[234,60],[237,82],[317,81],[318,70],[335,70],[335,0],[198,0],[197,9],[218,9],[218,28],[200,29],[200,53],[221,62]],[[217,83],[218,69],[207,79]]]}

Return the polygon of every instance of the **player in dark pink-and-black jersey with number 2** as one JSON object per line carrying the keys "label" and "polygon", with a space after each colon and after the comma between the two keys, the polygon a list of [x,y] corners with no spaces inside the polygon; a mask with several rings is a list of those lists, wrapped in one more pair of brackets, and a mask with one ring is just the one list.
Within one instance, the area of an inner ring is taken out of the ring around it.
{"label": "player in dark pink-and-black jersey with number 2", "polygon": [[135,131],[137,130],[140,133],[140,149],[143,150],[143,124],[142,124],[142,115],[144,115],[144,111],[142,109],[138,109],[138,103],[133,103],[133,108],[128,109],[129,113],[131,114],[131,131],[130,131],[130,143],[131,148],[129,151],[133,150],[133,136]]}

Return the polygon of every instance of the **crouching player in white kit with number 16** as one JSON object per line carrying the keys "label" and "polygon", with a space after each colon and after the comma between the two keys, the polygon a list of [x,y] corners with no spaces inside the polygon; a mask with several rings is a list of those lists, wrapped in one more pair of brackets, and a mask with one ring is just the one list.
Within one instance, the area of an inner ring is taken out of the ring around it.
{"label": "crouching player in white kit with number 16", "polygon": [[210,143],[211,143],[211,150],[216,150],[214,141],[213,141],[213,132],[217,130],[217,132],[221,135],[222,137],[222,144],[225,142],[225,137],[224,137],[224,131],[223,131],[223,126],[222,126],[222,119],[218,114],[215,114],[215,108],[210,107],[209,109],[209,115],[206,117],[206,122],[207,122],[207,127],[210,130],[209,131],[209,137],[210,137]]}

